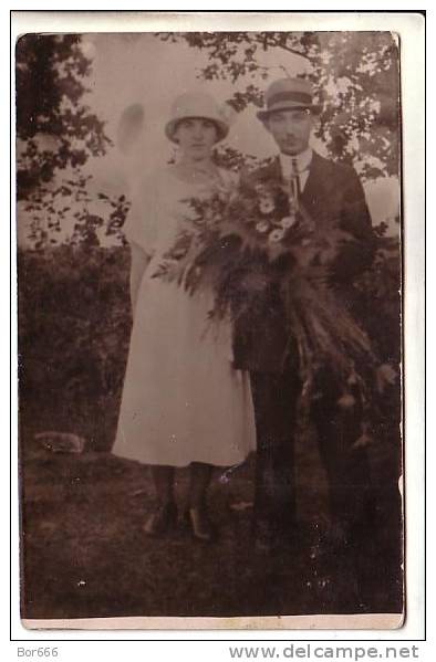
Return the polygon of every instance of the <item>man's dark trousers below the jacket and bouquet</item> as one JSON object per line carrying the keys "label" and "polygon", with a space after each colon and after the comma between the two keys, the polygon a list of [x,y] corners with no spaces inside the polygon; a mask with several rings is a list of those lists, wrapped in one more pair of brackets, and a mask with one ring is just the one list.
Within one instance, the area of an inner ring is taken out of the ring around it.
{"label": "man's dark trousers below the jacket and bouquet", "polygon": [[[289,362],[280,374],[251,372],[251,386],[257,427],[255,526],[267,528],[271,535],[292,535],[297,517],[294,441],[301,395],[298,367]],[[320,372],[307,423],[313,423],[318,432],[331,518],[350,530],[371,518],[371,485],[366,451],[354,446],[361,435],[359,395],[354,402],[349,398],[340,403],[342,395],[334,376]]]}

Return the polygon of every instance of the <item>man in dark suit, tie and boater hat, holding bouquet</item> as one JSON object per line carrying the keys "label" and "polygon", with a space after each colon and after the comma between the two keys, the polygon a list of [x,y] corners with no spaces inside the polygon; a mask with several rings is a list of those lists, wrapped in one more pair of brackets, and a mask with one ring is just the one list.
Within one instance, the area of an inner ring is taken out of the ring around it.
{"label": "man in dark suit, tie and boater hat, holding bouquet", "polygon": [[[332,259],[329,273],[343,305],[357,314],[351,285],[372,261],[371,218],[354,169],[326,160],[310,147],[318,112],[308,81],[283,78],[270,85],[266,109],[258,117],[280,154],[255,171],[248,186],[288,181],[315,223],[340,228],[352,238]],[[258,545],[269,548],[294,532],[294,435],[302,385],[298,349],[286,327],[279,291],[270,286],[262,301],[258,319],[236,329],[235,356],[236,366],[250,370],[251,376],[258,445],[255,532]],[[366,453],[353,448],[361,434],[362,412],[359,399],[353,408],[341,408],[341,388],[329,369],[318,374],[316,391],[311,418],[329,480],[332,532],[346,542],[368,507]]]}

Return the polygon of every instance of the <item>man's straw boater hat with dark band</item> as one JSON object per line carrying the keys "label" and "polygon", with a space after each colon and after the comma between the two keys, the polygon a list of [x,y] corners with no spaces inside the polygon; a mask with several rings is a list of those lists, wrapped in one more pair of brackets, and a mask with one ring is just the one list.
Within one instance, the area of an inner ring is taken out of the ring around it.
{"label": "man's straw boater hat with dark band", "polygon": [[304,78],[280,78],[274,81],[264,93],[266,108],[257,114],[261,122],[277,111],[309,108],[320,113],[321,106],[313,104],[312,85]]}

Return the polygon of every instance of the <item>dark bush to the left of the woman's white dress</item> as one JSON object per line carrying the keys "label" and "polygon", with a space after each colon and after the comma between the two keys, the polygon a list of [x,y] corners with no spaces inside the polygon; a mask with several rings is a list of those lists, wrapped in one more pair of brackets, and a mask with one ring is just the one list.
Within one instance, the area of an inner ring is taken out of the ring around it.
{"label": "dark bush to the left of the woman's white dress", "polygon": [[128,249],[19,251],[21,424],[110,450],[131,328]]}

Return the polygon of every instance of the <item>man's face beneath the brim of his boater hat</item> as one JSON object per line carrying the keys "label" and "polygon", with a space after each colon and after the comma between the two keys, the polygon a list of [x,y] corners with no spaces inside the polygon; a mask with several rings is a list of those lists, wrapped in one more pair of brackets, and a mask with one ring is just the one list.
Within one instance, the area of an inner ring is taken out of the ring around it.
{"label": "man's face beneath the brim of his boater hat", "polygon": [[264,123],[280,151],[295,156],[309,146],[313,117],[308,108],[276,111]]}

